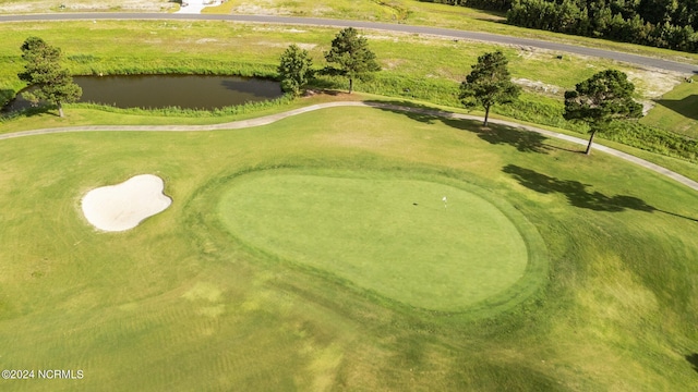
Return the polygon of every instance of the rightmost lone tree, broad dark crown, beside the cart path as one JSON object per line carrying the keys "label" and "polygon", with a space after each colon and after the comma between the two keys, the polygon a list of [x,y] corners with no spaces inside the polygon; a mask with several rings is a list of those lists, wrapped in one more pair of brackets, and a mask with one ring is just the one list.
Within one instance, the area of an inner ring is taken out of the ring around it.
{"label": "rightmost lone tree, broad dark crown, beside the cart path", "polygon": [[565,91],[565,120],[589,124],[591,136],[585,154],[591,154],[594,135],[612,120],[642,115],[642,106],[633,100],[633,91],[635,86],[627,75],[616,70],[601,71]]}

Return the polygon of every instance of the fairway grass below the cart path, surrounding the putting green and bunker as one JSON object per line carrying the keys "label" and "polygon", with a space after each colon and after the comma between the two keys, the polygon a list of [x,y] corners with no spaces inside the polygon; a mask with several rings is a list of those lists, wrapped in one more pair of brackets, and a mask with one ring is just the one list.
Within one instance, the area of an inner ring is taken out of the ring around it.
{"label": "fairway grass below the cart path, surrounding the putting green and bunker", "polygon": [[[698,195],[570,149],[369,108],[238,131],[2,140],[0,334],[11,339],[0,360],[84,378],[1,388],[690,390]],[[284,262],[231,235],[219,207],[236,179],[266,169],[467,183],[534,228],[549,278],[516,307],[474,317],[386,301],[326,264]],[[170,208],[124,233],[89,226],[82,195],[141,173],[165,180]]]}

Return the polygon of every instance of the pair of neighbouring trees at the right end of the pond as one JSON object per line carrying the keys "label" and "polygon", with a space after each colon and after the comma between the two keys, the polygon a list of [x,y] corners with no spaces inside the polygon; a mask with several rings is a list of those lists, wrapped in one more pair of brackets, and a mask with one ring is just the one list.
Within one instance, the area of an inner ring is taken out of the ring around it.
{"label": "pair of neighbouring trees at the right end of the pond", "polygon": [[315,74],[323,74],[348,78],[351,94],[354,81],[366,81],[373,72],[381,70],[368,39],[353,27],[347,27],[335,36],[332,48],[325,52],[325,60],[329,65],[313,70],[308,50],[297,45],[289,46],[281,54],[278,66],[281,88],[298,96]]}

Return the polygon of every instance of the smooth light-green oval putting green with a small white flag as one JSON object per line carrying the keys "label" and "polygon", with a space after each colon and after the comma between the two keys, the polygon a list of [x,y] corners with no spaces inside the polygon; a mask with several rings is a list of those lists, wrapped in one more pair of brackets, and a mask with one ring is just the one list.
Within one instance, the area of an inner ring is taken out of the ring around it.
{"label": "smooth light-green oval putting green with a small white flag", "polygon": [[430,181],[261,172],[232,181],[219,213],[248,245],[425,309],[468,308],[527,269],[507,216]]}

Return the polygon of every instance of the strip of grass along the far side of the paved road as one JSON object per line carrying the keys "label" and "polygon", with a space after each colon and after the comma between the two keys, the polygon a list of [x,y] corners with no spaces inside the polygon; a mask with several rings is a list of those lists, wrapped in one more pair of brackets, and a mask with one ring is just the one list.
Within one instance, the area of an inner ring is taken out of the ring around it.
{"label": "strip of grass along the far side of the paved road", "polygon": [[[179,9],[176,2],[168,0],[124,0],[118,4],[107,0],[76,0],[64,3],[64,8],[60,8],[60,5],[59,3],[47,4],[45,0],[3,0],[0,2],[0,12],[172,12]],[[505,16],[502,13],[468,9],[465,7],[435,4],[418,0],[336,0],[332,2],[311,0],[266,0],[264,2],[255,0],[228,0],[221,5],[205,8],[202,12],[218,14],[233,12],[237,14],[320,16],[407,23],[554,40],[698,63],[698,54],[509,26],[504,23]]]}

